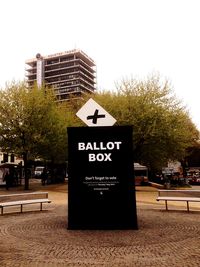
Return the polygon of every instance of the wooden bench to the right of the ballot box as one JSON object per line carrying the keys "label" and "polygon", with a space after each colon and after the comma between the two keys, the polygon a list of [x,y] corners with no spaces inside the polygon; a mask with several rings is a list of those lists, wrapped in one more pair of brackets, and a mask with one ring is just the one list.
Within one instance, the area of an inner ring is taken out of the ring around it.
{"label": "wooden bench to the right of the ballot box", "polygon": [[200,190],[158,190],[156,200],[165,201],[166,210],[168,210],[167,201],[185,201],[189,212],[189,202],[200,202]]}

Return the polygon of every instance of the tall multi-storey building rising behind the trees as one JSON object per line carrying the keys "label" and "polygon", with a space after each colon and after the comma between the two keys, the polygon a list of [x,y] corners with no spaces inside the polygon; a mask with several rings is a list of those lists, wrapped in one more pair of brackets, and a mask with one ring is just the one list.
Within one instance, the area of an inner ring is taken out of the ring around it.
{"label": "tall multi-storey building rising behind the trees", "polygon": [[35,82],[53,87],[58,101],[69,94],[79,97],[96,89],[96,65],[83,51],[74,49],[53,55],[36,55],[26,60],[26,78],[31,87]]}

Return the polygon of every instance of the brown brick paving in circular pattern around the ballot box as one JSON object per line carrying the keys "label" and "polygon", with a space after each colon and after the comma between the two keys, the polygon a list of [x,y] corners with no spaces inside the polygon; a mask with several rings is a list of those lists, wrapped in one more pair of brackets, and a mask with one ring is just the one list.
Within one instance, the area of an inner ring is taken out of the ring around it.
{"label": "brown brick paving in circular pattern around the ballot box", "polygon": [[32,190],[48,191],[52,203],[42,212],[35,205],[0,216],[1,267],[200,266],[200,206],[191,205],[188,213],[185,203],[174,203],[166,212],[156,189],[137,187],[139,230],[77,231],[67,230],[66,184],[35,183]]}

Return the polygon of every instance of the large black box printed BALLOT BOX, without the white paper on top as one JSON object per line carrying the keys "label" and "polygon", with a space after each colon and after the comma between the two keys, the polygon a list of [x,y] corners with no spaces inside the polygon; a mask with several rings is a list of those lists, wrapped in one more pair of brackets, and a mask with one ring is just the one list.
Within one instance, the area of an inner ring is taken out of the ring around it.
{"label": "large black box printed BALLOT BOX, without the white paper on top", "polygon": [[68,229],[137,229],[132,127],[67,131]]}

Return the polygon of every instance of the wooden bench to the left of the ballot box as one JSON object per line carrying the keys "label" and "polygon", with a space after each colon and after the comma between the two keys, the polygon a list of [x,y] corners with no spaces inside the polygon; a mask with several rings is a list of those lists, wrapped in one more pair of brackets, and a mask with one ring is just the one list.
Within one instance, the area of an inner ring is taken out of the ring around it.
{"label": "wooden bench to the left of the ballot box", "polygon": [[1,215],[3,215],[4,207],[20,206],[22,212],[23,205],[36,203],[40,203],[40,211],[42,211],[43,203],[51,203],[51,200],[48,199],[48,192],[0,195]]}

